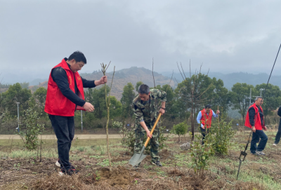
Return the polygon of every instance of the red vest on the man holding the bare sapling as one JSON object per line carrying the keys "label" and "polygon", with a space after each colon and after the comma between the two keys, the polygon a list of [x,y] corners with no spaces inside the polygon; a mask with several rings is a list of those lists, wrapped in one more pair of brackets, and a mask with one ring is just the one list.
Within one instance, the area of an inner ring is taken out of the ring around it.
{"label": "red vest on the man holding the bare sapling", "polygon": [[[74,93],[75,93],[75,84],[74,84],[74,77],[75,77],[76,79],[75,81],[77,83],[77,88],[78,88],[78,96],[81,99],[85,100],[83,83],[79,73],[72,72],[72,70],[70,70],[70,67],[68,67],[67,62],[65,62],[65,60],[62,60],[62,62],[60,62],[55,67],[62,67],[63,69],[65,69],[68,83],[70,84],[70,90],[72,90]],[[55,67],[53,67],[53,69]],[[68,100],[67,97],[63,95],[63,93],[60,91],[60,88],[58,88],[57,83],[53,81],[53,78],[50,74],[50,76],[48,77],[48,89],[47,89],[47,96],[46,96],[45,112],[55,116],[74,116],[75,107],[76,104]],[[77,109],[85,110],[83,107],[79,107],[79,106],[77,106]]]}

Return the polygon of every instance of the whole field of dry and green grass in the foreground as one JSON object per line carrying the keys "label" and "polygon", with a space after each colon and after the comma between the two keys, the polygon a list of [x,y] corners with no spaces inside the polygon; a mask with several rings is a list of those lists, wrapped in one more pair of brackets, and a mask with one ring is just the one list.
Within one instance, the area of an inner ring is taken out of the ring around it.
{"label": "whole field of dry and green grass in the foreground", "polygon": [[131,153],[119,139],[110,140],[113,171],[108,170],[105,139],[72,142],[71,163],[79,175],[58,177],[56,140],[44,140],[42,160],[21,140],[0,140],[0,189],[281,189],[281,145],[272,147],[275,131],[267,132],[266,156],[248,156],[236,180],[238,158],[249,131],[237,133],[228,155],[212,156],[204,175],[192,170],[190,151],[179,145],[190,138],[172,137],[160,151],[162,167],[147,156],[139,168],[128,165]]}

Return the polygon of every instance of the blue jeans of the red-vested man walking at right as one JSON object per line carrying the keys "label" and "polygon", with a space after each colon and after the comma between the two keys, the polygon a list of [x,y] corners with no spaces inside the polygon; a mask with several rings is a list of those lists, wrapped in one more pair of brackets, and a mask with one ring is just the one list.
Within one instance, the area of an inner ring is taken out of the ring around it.
{"label": "blue jeans of the red-vested man walking at right", "polygon": [[[256,147],[256,143],[258,142],[259,145]],[[263,149],[266,147],[266,142],[268,142],[268,136],[266,136],[266,133],[264,133],[263,130],[256,130],[256,133],[253,132],[253,137],[251,138],[251,153],[263,151]]]}

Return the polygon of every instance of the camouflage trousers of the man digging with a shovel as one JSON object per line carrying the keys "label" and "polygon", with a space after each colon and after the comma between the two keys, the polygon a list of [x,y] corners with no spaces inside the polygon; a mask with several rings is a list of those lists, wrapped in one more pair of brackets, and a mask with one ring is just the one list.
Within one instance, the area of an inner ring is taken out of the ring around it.
{"label": "camouflage trousers of the man digging with a shovel", "polygon": [[[148,125],[148,130],[152,130],[152,126]],[[134,151],[135,153],[141,153],[141,149],[143,149],[143,138],[146,136],[145,130],[138,125],[136,128],[136,142]],[[152,158],[152,162],[159,161],[159,128],[155,128],[154,132],[152,133],[152,138],[150,139],[150,156]]]}

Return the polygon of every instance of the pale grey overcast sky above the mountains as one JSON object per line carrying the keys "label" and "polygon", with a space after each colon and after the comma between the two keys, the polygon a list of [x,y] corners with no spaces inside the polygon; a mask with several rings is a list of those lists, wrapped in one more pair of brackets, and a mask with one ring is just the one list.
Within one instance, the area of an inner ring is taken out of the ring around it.
{"label": "pale grey overcast sky above the mountains", "polygon": [[[110,60],[117,70],[151,69],[153,57],[159,73],[178,72],[176,62],[188,69],[191,60],[203,72],[270,74],[280,7],[277,0],[0,0],[0,78],[48,79],[75,50],[87,59],[81,73]],[[273,74],[280,73],[281,55]]]}

